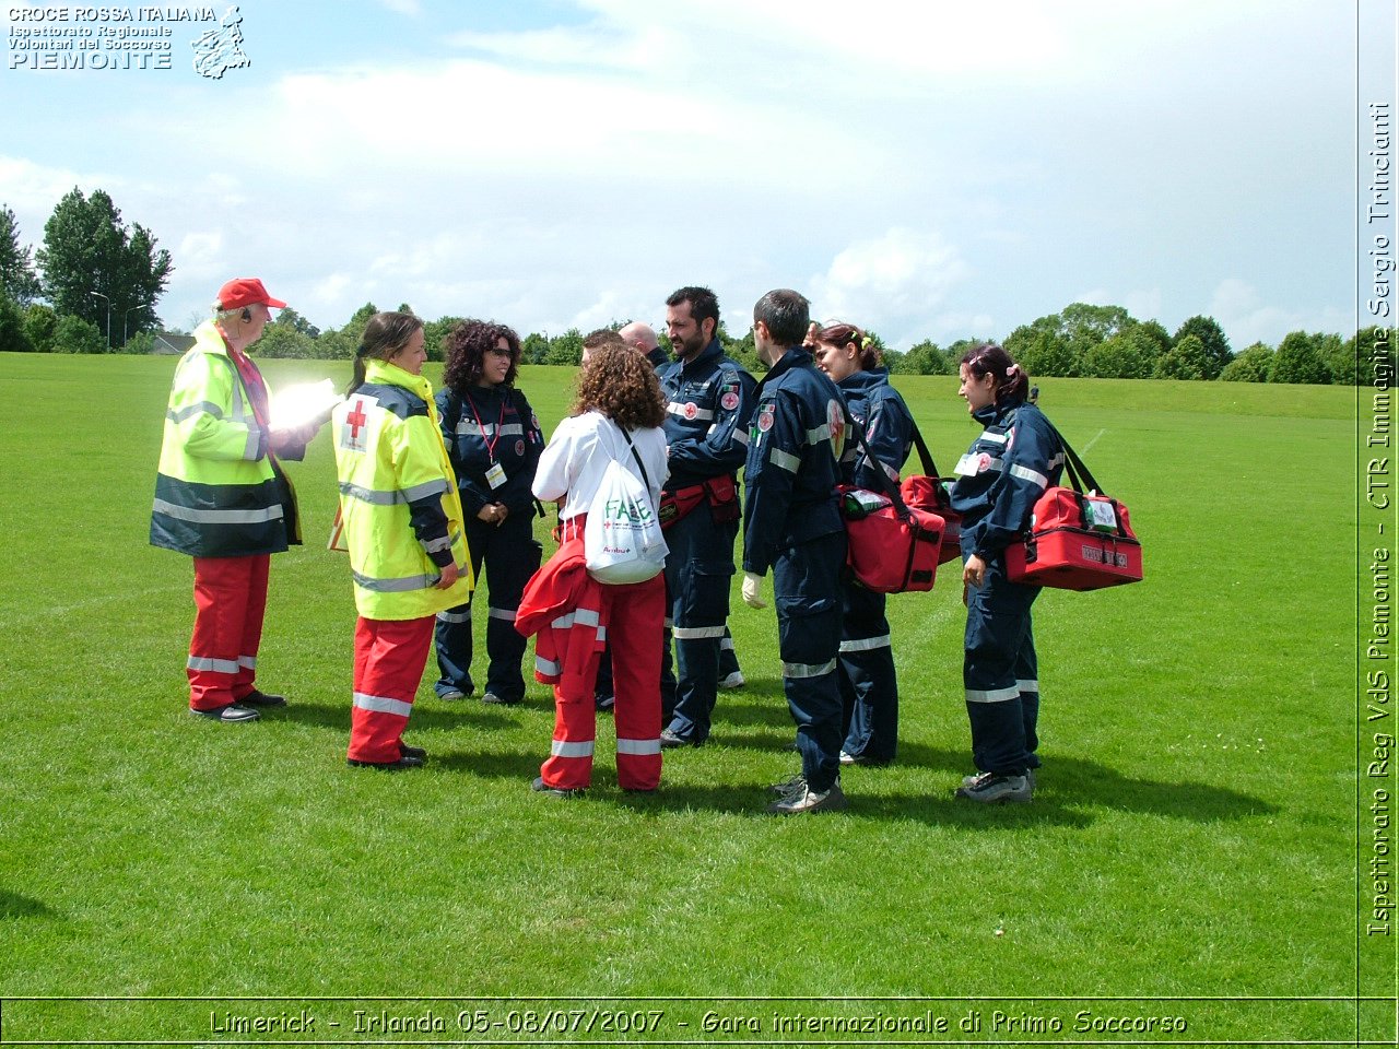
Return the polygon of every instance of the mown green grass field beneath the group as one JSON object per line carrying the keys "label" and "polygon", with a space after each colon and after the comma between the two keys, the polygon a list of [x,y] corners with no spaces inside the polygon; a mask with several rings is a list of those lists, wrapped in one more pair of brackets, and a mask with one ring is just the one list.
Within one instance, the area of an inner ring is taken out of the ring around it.
{"label": "mown green grass field beneath the group", "polygon": [[[795,769],[775,621],[736,594],[748,685],[720,697],[711,745],[667,751],[656,796],[617,790],[606,718],[595,789],[533,794],[541,685],[491,709],[425,683],[409,738],[429,766],[348,769],[354,611],[325,550],[326,435],[291,467],[308,544],[274,558],[259,659],[291,706],[190,719],[190,565],[147,545],[173,364],[0,357],[0,1042],[876,1038],[782,1031],[802,1015],[921,1017],[929,1034],[877,1035],[909,1043],[1392,1038],[1392,1007],[1353,1000],[1357,951],[1377,947],[1356,936],[1356,512],[1335,467],[1353,390],[1042,382],[1130,505],[1146,582],[1037,606],[1034,804],[953,800],[971,764],[944,569],[890,601],[898,762],[848,771],[846,814],[783,821],[762,814]],[[546,431],[571,379],[522,375]],[[897,385],[950,469],[975,434],[954,379]],[[222,1020],[302,1008],[311,1034]],[[464,1034],[462,1010],[487,1027]],[[561,1032],[567,1010],[583,1027]],[[1147,1032],[1154,1017],[1186,1028]]]}

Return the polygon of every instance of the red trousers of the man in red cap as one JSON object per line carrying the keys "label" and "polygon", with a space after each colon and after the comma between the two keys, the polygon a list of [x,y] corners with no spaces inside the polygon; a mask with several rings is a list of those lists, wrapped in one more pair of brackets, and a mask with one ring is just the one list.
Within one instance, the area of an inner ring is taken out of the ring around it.
{"label": "red trousers of the man in red cap", "polygon": [[215,711],[253,691],[271,557],[194,558],[194,634],[189,642],[189,705]]}

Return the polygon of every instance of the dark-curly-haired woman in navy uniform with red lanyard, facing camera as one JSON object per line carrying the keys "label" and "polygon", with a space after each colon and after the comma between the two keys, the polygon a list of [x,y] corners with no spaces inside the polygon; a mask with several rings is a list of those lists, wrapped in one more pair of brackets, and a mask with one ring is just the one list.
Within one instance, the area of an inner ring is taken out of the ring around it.
{"label": "dark-curly-haired woman in navy uniform with red lanyard, facing camera", "polygon": [[[445,340],[443,389],[436,396],[452,467],[466,512],[471,569],[485,564],[487,704],[518,704],[525,698],[520,660],[525,638],[515,629],[525,583],[539,568],[543,548],[534,541],[534,497],[530,485],[544,435],[525,394],[515,389],[520,340],[505,324],[464,320]],[[471,695],[471,606],[438,614],[436,694],[442,699]]]}

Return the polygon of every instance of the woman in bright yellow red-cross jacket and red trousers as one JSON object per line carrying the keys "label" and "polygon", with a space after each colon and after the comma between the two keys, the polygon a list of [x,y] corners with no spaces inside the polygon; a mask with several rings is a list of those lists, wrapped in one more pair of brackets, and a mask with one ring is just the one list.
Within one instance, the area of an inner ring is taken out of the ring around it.
{"label": "woman in bright yellow red-cross jacket and red trousers", "polygon": [[333,418],[340,518],[354,572],[351,765],[418,768],[403,743],[436,614],[471,596],[462,502],[422,378],[422,322],[375,313]]}

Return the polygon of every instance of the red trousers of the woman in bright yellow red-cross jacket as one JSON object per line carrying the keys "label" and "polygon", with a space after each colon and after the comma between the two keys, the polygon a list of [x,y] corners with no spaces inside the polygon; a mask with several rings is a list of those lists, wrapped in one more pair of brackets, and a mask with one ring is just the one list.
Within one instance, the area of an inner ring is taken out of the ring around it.
{"label": "red trousers of the woman in bright yellow red-cross jacket", "polygon": [[402,757],[399,743],[432,646],[432,615],[367,620],[354,631],[354,695],[350,748],[355,761],[386,764]]}

